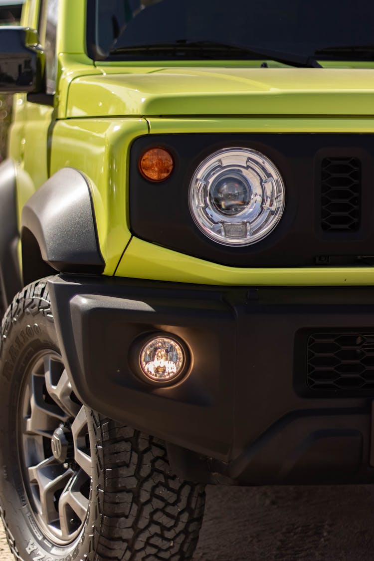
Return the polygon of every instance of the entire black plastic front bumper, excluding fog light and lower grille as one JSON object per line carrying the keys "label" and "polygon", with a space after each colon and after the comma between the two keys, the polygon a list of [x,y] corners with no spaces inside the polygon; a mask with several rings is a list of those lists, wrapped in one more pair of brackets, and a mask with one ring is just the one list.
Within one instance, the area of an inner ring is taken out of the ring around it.
{"label": "entire black plastic front bumper, excluding fog light and lower grille", "polygon": [[[166,440],[179,475],[242,484],[374,479],[374,387],[307,383],[311,333],[374,333],[374,288],[62,275],[49,289],[77,396]],[[186,378],[168,388],[143,382],[129,358],[138,337],[160,331],[192,355]]]}

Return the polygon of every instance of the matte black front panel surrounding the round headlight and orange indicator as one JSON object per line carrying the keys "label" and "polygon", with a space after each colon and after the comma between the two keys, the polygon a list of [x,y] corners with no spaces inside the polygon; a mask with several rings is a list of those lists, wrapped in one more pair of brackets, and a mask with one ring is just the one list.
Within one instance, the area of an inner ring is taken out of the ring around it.
{"label": "matte black front panel surrounding the round headlight and orange indicator", "polygon": [[[172,176],[155,185],[138,171],[138,158],[161,146],[172,154]],[[284,180],[285,209],[269,236],[249,246],[228,247],[210,240],[196,226],[188,188],[198,165],[217,150],[242,146],[264,154]],[[130,224],[133,236],[174,251],[239,267],[363,266],[372,255],[374,136],[370,134],[154,134],[131,146]],[[362,178],[361,219],[357,231],[321,227],[321,167],[326,158],[354,158]],[[302,247],[302,251],[300,248]],[[320,263],[329,256],[329,263]]]}

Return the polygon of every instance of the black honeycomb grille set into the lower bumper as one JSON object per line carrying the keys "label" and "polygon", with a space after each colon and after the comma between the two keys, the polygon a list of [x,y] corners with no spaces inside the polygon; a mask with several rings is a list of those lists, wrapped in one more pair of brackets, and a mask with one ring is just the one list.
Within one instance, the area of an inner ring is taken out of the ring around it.
{"label": "black honeycomb grille set into the lower bumper", "polygon": [[307,383],[311,389],[374,389],[374,330],[310,335]]}

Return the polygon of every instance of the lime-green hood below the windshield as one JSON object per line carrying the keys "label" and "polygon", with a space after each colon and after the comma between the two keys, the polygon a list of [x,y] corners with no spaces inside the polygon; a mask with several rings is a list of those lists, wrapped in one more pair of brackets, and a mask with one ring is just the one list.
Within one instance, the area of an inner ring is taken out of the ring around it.
{"label": "lime-green hood below the windshield", "polygon": [[67,117],[373,115],[374,72],[352,68],[110,68],[72,81]]}

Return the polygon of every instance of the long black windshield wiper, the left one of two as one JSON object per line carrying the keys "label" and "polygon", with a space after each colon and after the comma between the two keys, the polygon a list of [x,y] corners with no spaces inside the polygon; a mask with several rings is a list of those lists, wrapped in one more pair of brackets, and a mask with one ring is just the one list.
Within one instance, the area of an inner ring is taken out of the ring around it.
{"label": "long black windshield wiper, the left one of two", "polygon": [[228,53],[233,56],[241,55],[245,58],[256,57],[258,59],[267,59],[276,62],[281,62],[285,65],[295,66],[299,68],[321,68],[321,65],[315,58],[304,56],[302,54],[284,53],[276,50],[257,49],[247,47],[241,43],[219,43],[214,41],[192,41],[187,42],[184,40],[171,42],[171,43],[150,43],[144,45],[128,45],[123,47],[116,47],[110,49],[109,54],[169,54],[172,53],[176,57],[186,56],[187,54],[194,53],[196,56],[207,58],[215,56],[218,53],[223,53],[227,56]]}

